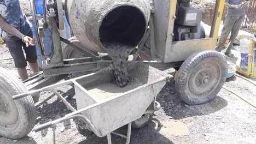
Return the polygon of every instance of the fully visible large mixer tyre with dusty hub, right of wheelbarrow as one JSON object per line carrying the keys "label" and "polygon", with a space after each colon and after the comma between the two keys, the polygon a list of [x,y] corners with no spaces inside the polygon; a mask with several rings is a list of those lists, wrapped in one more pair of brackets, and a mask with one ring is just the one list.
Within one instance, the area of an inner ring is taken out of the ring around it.
{"label": "fully visible large mixer tyre with dusty hub, right of wheelbarrow", "polygon": [[225,57],[212,50],[191,55],[181,66],[176,79],[176,92],[189,104],[212,100],[223,87],[228,74]]}

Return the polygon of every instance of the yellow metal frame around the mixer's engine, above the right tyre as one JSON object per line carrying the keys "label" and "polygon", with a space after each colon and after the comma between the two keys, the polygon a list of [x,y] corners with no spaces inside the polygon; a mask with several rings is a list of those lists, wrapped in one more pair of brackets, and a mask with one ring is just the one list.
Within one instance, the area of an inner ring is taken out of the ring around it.
{"label": "yellow metal frame around the mixer's engine, above the right tyre", "polygon": [[177,0],[169,0],[169,4],[168,29],[166,33],[167,37],[165,43],[166,49],[162,61],[164,63],[184,61],[192,53],[198,50],[214,50],[217,44],[218,32],[220,22],[222,20],[225,0],[216,1],[210,38],[184,41],[172,41],[174,35],[174,22],[176,19]]}

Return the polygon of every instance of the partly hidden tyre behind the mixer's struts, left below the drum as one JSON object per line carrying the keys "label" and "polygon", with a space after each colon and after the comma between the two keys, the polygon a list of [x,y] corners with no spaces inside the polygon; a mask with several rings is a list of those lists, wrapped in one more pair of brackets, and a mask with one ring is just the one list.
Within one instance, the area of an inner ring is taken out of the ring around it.
{"label": "partly hidden tyre behind the mixer's struts, left below the drum", "polygon": [[[79,46],[79,47],[84,47],[79,40],[76,37],[71,37],[69,39],[71,43]],[[91,53],[94,55],[98,56],[97,52],[89,50]],[[62,47],[62,54],[64,59],[69,59],[69,58],[81,58],[81,57],[88,57],[89,55],[85,53],[80,52],[79,50],[75,50],[73,47],[65,44]]]}

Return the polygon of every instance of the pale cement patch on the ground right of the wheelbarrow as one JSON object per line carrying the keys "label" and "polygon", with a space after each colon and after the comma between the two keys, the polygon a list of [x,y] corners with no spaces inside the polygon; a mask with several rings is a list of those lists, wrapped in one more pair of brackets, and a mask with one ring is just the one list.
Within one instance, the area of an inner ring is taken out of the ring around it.
{"label": "pale cement patch on the ground right of the wheelbarrow", "polygon": [[172,134],[174,136],[184,136],[189,134],[189,129],[187,125],[179,121],[168,121],[162,123],[164,128],[160,131],[168,134]]}

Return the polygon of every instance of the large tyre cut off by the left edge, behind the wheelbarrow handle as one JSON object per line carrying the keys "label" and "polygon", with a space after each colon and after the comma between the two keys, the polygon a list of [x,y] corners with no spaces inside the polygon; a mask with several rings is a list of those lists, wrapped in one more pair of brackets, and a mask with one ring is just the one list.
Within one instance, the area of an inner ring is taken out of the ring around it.
{"label": "large tyre cut off by the left edge, behind the wheelbarrow handle", "polygon": [[0,136],[20,139],[36,124],[36,107],[32,97],[13,100],[12,96],[27,92],[16,76],[0,68]]}

